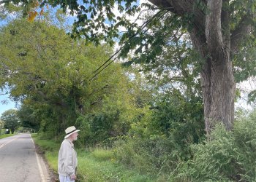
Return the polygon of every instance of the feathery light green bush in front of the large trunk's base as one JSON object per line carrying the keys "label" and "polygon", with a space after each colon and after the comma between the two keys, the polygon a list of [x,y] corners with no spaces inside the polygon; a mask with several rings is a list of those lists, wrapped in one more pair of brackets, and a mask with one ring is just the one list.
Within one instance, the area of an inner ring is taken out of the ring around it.
{"label": "feathery light green bush in front of the large trunk's base", "polygon": [[191,146],[193,158],[178,168],[176,180],[255,181],[256,114],[235,122],[232,131],[218,125],[211,141]]}

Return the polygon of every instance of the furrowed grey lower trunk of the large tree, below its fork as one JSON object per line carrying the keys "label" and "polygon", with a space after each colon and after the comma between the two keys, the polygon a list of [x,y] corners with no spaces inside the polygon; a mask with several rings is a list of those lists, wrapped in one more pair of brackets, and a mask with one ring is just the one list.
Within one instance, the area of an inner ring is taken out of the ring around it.
{"label": "furrowed grey lower trunk of the large tree, below its fork", "polygon": [[200,74],[207,134],[217,123],[227,130],[233,127],[236,84],[229,53],[222,53],[222,58],[208,60]]}

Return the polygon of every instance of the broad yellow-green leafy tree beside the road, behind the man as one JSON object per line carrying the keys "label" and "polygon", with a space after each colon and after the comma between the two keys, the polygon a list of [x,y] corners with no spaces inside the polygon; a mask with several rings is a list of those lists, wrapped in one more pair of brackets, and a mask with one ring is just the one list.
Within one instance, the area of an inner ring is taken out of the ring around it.
{"label": "broad yellow-green leafy tree beside the road, behind the man", "polygon": [[0,35],[0,85],[8,84],[11,97],[22,103],[22,124],[52,137],[71,124],[83,127],[84,116],[102,112],[113,126],[101,130],[109,127],[110,136],[129,130],[139,111],[132,98],[134,85],[121,65],[113,63],[91,80],[93,71],[110,56],[110,47],[73,40],[44,20],[13,20]]}

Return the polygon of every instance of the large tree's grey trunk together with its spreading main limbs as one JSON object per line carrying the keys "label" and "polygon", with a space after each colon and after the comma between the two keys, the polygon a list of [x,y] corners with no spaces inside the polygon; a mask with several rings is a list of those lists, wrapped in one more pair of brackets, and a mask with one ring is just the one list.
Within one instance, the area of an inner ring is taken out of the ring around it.
{"label": "large tree's grey trunk together with its spreading main limbs", "polygon": [[157,7],[170,8],[170,12],[181,18],[191,16],[190,39],[194,49],[205,59],[200,78],[206,132],[209,133],[216,122],[225,124],[227,130],[232,129],[236,82],[231,53],[238,52],[246,36],[252,34],[255,2],[151,2]]}

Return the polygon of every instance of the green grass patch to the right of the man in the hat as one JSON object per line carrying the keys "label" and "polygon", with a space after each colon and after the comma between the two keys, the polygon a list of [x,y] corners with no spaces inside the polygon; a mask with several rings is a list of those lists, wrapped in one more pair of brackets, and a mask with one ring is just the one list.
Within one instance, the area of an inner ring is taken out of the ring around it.
{"label": "green grass patch to the right of the man in the hat", "polygon": [[152,181],[149,175],[140,175],[116,162],[111,152],[104,149],[78,151],[80,181]]}

